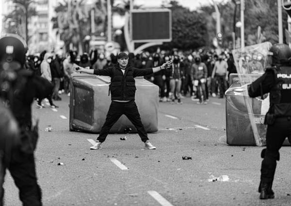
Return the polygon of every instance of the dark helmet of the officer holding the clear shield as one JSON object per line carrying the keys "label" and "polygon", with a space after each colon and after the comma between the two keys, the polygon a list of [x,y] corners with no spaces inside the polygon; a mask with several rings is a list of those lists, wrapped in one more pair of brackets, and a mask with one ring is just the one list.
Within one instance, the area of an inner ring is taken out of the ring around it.
{"label": "dark helmet of the officer holding the clear shield", "polygon": [[286,44],[274,44],[270,50],[272,64],[289,64],[291,60],[291,48]]}

